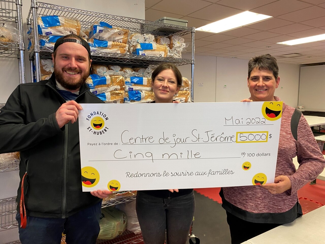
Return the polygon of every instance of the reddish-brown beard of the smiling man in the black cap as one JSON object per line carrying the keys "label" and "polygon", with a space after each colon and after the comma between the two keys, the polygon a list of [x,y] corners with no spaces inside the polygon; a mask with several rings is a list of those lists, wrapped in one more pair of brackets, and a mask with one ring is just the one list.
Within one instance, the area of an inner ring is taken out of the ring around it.
{"label": "reddish-brown beard of the smiling man in the black cap", "polygon": [[79,69],[64,69],[64,70],[59,70],[56,68],[56,65],[54,63],[54,74],[56,80],[59,82],[59,84],[66,88],[67,90],[77,90],[80,88],[82,85],[85,84],[87,77],[89,76],[89,70],[90,68],[85,72],[85,75],[81,77],[79,81],[75,81],[75,78],[64,78],[63,77],[63,72],[64,71],[70,71],[70,72],[81,72]]}

